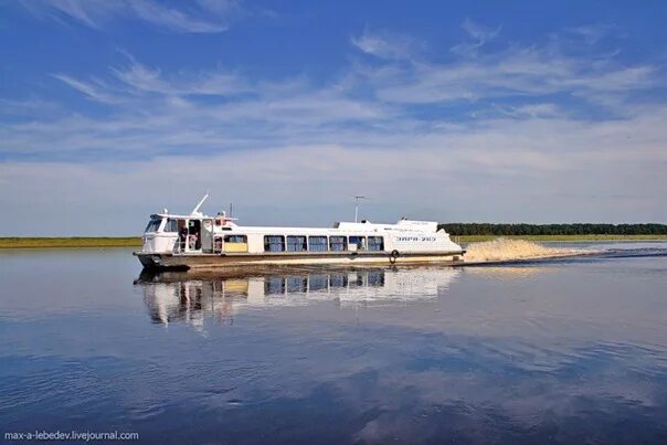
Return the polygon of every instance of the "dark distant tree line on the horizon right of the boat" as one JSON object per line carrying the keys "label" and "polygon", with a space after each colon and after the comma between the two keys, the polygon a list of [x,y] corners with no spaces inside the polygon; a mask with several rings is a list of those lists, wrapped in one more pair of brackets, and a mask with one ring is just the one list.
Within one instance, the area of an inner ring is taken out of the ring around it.
{"label": "dark distant tree line on the horizon right of the boat", "polygon": [[667,224],[438,224],[451,235],[665,235]]}

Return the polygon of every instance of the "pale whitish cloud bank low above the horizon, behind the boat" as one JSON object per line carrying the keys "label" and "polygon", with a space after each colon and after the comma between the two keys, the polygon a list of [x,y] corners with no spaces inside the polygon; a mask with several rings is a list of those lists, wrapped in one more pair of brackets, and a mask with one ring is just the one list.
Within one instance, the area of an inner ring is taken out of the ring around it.
{"label": "pale whitish cloud bank low above the horizon, behind the boat", "polygon": [[[146,124],[138,121],[131,136],[129,125],[118,133],[65,129],[65,139],[55,135],[52,147],[116,147],[134,153],[177,145],[198,146],[200,155],[74,165],[4,162],[0,178],[11,187],[0,188],[0,202],[21,220],[36,213],[67,221],[50,224],[54,234],[112,230],[102,221],[107,208],[124,215],[114,233],[133,233],[156,208],[191,206],[204,190],[219,205],[233,201],[243,222],[256,224],[328,224],[341,218],[348,198],[360,191],[373,197],[368,215],[383,221],[402,214],[441,221],[665,221],[665,108],[597,124],[498,118],[457,131],[417,136],[393,130],[384,138],[332,131],[324,138],[339,144],[299,145],[283,138],[245,149],[233,149],[224,126],[179,128],[174,121],[173,130],[144,133]],[[220,152],[220,146],[230,148]],[[0,226],[0,233],[17,230],[29,234],[31,225],[7,221]]]}

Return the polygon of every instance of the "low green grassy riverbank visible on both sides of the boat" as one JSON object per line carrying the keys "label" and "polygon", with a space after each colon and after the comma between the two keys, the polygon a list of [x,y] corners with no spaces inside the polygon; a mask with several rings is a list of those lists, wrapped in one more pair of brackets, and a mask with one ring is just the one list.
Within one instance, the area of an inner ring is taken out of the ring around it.
{"label": "low green grassy riverbank visible on both sides of the boat", "polygon": [[[495,240],[496,235],[452,236],[454,241],[474,243]],[[667,241],[667,235],[521,235],[502,236],[528,241]],[[0,237],[0,248],[139,247],[139,236],[127,237]]]}

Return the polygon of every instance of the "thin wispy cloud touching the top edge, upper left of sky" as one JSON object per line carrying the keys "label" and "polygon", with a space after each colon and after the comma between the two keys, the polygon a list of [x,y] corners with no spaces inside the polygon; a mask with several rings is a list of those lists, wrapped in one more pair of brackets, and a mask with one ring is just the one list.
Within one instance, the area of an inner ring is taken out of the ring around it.
{"label": "thin wispy cloud touching the top edge, upper left of sky", "polygon": [[181,2],[178,8],[153,0],[23,0],[22,4],[35,14],[68,18],[98,30],[114,20],[134,19],[188,33],[225,31],[230,18],[240,11],[239,4],[231,0]]}

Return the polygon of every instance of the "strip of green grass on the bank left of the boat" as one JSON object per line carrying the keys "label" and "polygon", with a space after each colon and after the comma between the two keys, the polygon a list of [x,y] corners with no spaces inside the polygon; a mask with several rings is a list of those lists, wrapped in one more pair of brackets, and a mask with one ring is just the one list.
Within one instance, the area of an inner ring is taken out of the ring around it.
{"label": "strip of green grass on the bank left of the boat", "polygon": [[53,247],[139,247],[139,236],[127,237],[0,237],[0,248],[53,248]]}

